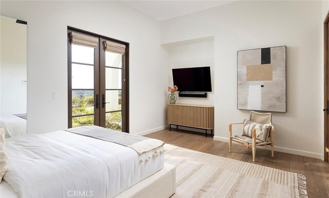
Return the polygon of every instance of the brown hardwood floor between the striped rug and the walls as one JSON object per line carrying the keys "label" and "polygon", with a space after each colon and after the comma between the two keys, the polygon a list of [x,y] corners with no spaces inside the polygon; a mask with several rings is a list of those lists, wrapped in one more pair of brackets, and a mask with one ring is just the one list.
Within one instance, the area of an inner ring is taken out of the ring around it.
{"label": "brown hardwood floor between the striped rug and the walls", "polygon": [[[251,148],[232,144],[230,153],[228,143],[214,141],[212,135],[205,137],[204,133],[165,129],[145,136],[162,140],[167,144],[253,163]],[[329,197],[329,164],[322,160],[277,151],[274,157],[271,157],[270,150],[257,147],[256,161],[255,164],[305,175],[308,197]]]}

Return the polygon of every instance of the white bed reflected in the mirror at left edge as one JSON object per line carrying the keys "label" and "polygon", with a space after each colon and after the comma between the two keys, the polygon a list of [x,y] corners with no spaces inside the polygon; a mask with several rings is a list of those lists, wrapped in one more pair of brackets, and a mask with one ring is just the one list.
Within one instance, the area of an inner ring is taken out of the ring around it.
{"label": "white bed reflected in the mirror at left edge", "polygon": [[6,138],[18,136],[18,135],[24,135],[26,134],[26,113],[1,116],[0,126],[5,129]]}

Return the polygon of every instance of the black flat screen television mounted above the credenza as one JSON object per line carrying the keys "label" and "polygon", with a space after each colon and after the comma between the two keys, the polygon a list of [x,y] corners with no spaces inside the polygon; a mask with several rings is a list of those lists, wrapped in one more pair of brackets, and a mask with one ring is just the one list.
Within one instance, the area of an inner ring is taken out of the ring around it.
{"label": "black flat screen television mounted above the credenza", "polygon": [[210,67],[173,69],[173,80],[180,92],[211,92]]}

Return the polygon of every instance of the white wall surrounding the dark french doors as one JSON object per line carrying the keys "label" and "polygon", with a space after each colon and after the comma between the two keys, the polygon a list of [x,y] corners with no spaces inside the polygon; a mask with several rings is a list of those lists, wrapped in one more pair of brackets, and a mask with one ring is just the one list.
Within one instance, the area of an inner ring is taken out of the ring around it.
{"label": "white wall surrounding the dark french doors", "polygon": [[166,125],[168,64],[155,19],[114,1],[1,1],[1,14],[28,22],[28,133],[67,128],[67,26],[129,42],[130,132]]}

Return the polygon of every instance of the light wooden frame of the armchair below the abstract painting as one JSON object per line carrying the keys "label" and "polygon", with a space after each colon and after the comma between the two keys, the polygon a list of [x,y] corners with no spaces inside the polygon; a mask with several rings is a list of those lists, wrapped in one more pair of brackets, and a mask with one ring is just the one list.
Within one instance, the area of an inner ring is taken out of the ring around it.
{"label": "light wooden frame of the armchair below the abstract painting", "polygon": [[[257,114],[261,114],[258,112],[253,112],[253,113],[257,113]],[[251,115],[251,112],[250,112]],[[265,114],[264,114],[265,115]],[[249,118],[250,120],[250,118]],[[271,156],[274,156],[274,128],[273,126],[267,127],[269,129],[269,140],[267,142],[261,142],[256,144],[256,130],[260,130],[258,128],[252,129],[251,134],[252,134],[252,141],[251,141],[251,145],[249,143],[249,141],[243,141],[243,140],[238,140],[235,137],[232,137],[232,126],[233,125],[243,125],[244,123],[232,123],[228,125],[228,130],[229,130],[229,152],[231,152],[232,150],[232,141],[239,143],[241,145],[245,145],[247,146],[247,148],[250,148],[250,146],[252,147],[252,162],[255,162],[255,155],[256,155],[256,147],[257,146],[271,146]],[[265,128],[264,128],[265,129]]]}

